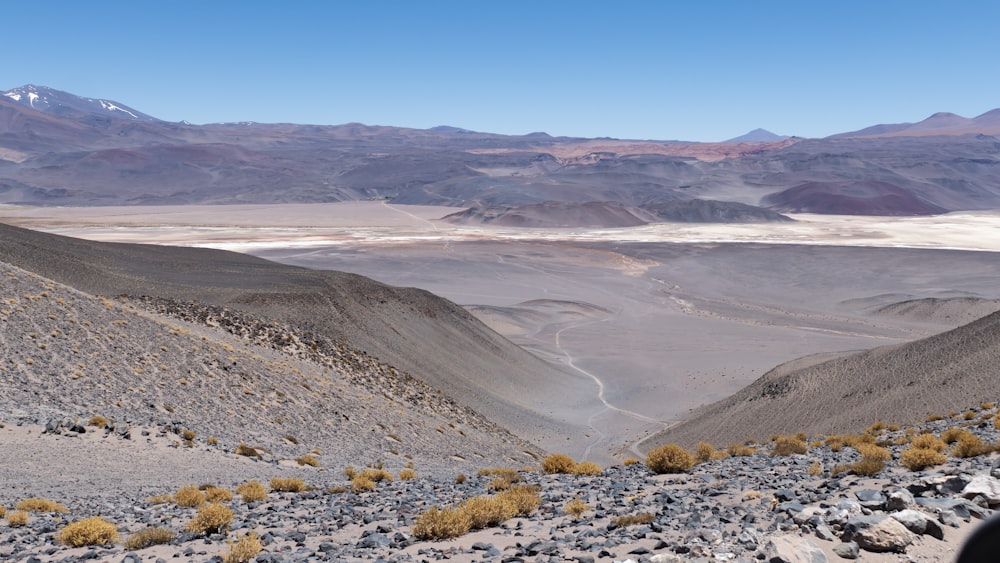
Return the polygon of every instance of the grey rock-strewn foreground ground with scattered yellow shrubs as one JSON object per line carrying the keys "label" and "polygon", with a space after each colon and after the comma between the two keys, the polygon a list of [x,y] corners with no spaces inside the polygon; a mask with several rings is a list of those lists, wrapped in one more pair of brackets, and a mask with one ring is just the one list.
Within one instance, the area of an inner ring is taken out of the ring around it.
{"label": "grey rock-strewn foreground ground with scattered yellow shrubs", "polygon": [[[413,478],[382,480],[371,491],[356,491],[339,470],[299,472],[309,490],[272,490],[254,502],[237,494],[223,502],[233,511],[228,529],[208,533],[188,531],[198,509],[176,504],[176,486],[162,487],[158,499],[149,498],[148,490],[130,490],[127,483],[113,498],[50,499],[68,512],[30,513],[20,527],[10,524],[14,505],[23,498],[4,490],[0,501],[6,503],[7,519],[0,525],[0,559],[219,561],[230,555],[234,540],[253,533],[261,541],[256,561],[946,561],[1000,506],[1000,459],[993,453],[955,457],[947,450],[946,462],[910,471],[899,462],[903,442],[921,432],[942,435],[964,427],[995,443],[1000,433],[994,414],[974,409],[964,418],[956,415],[916,429],[873,432],[893,459],[871,477],[833,475],[836,466],[856,462],[859,455],[852,447],[833,451],[817,441],[803,454],[771,455],[760,446],[758,453],[707,461],[681,474],[655,474],[642,463],[606,468],[599,475],[522,468],[515,486],[537,488],[541,502],[536,509],[439,541],[415,537],[421,513],[497,494],[504,486],[496,482],[498,472],[463,479],[441,472],[422,475],[416,467],[416,475],[408,476]],[[57,424],[46,435],[72,432]],[[101,439],[124,440],[114,431]],[[251,463],[246,478],[256,469],[266,485],[276,463]],[[165,476],[165,482],[177,478]],[[235,490],[241,483],[213,484]],[[573,516],[567,506],[575,500],[584,506]],[[67,522],[96,515],[118,530],[118,542],[59,543]],[[125,547],[131,535],[151,527],[164,528],[173,538],[142,549]]]}

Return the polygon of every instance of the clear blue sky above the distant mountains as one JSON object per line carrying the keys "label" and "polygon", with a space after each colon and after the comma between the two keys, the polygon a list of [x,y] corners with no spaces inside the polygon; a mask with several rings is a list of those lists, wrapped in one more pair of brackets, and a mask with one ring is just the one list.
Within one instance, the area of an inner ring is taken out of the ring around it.
{"label": "clear blue sky above the distant mountains", "polygon": [[5,2],[0,90],[169,121],[718,141],[1000,107],[1000,2]]}

